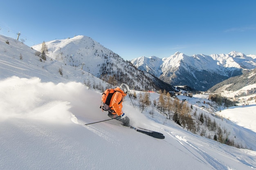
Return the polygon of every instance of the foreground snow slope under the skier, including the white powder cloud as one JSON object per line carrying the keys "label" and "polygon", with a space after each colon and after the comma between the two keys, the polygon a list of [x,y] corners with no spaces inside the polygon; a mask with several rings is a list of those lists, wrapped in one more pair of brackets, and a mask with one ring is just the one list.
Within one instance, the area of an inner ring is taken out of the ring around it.
{"label": "foreground snow slope under the skier, including the white powder cloud", "polygon": [[[81,83],[43,83],[10,77],[0,82],[0,169],[251,170],[256,152],[150,121],[130,106],[131,124],[163,132],[155,139],[108,119],[101,94]],[[161,119],[159,119],[159,122]],[[251,134],[255,135],[255,134]]]}

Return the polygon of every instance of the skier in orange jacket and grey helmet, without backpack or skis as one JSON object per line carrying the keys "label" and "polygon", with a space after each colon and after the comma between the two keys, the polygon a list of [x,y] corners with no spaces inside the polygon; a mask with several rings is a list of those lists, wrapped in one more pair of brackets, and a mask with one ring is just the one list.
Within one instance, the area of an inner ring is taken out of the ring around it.
{"label": "skier in orange jacket and grey helmet, without backpack or skis", "polygon": [[[123,113],[123,100],[124,97],[130,93],[129,86],[127,84],[121,84],[120,87],[115,88],[115,93],[110,100],[110,109],[108,110],[108,117],[116,118],[118,121],[123,122],[124,126],[130,126],[130,119]],[[119,117],[120,116],[120,117]]]}

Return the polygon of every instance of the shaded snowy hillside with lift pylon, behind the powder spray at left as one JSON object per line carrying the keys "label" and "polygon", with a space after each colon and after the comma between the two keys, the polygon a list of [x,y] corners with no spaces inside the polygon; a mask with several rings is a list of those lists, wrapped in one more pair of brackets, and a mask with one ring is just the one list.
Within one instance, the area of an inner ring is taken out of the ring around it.
{"label": "shaded snowy hillside with lift pylon, behind the powder spray at left", "polygon": [[92,85],[92,74],[49,57],[46,61],[41,60],[42,62],[40,59],[38,51],[15,39],[0,35],[1,79],[15,75],[21,78],[40,77],[42,82],[48,82],[51,77],[54,83],[76,81],[91,82]]}

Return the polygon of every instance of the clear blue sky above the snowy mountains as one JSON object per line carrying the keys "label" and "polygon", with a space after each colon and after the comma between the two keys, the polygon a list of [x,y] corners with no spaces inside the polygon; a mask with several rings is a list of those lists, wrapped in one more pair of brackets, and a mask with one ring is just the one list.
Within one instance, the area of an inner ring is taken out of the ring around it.
{"label": "clear blue sky above the snowy mountains", "polygon": [[256,55],[256,0],[4,0],[0,34],[33,46],[91,37],[125,60],[238,51]]}

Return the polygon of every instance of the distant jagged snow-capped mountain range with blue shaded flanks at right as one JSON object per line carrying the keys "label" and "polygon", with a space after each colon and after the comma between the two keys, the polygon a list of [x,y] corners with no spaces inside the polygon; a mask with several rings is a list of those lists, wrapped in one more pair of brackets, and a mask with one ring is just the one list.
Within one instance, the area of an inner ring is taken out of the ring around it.
{"label": "distant jagged snow-capped mountain range with blue shaded flanks at right", "polygon": [[139,57],[131,61],[141,71],[159,77],[173,86],[186,85],[207,91],[229,77],[256,68],[256,55],[232,51],[229,54],[193,55],[176,52],[170,57]]}

